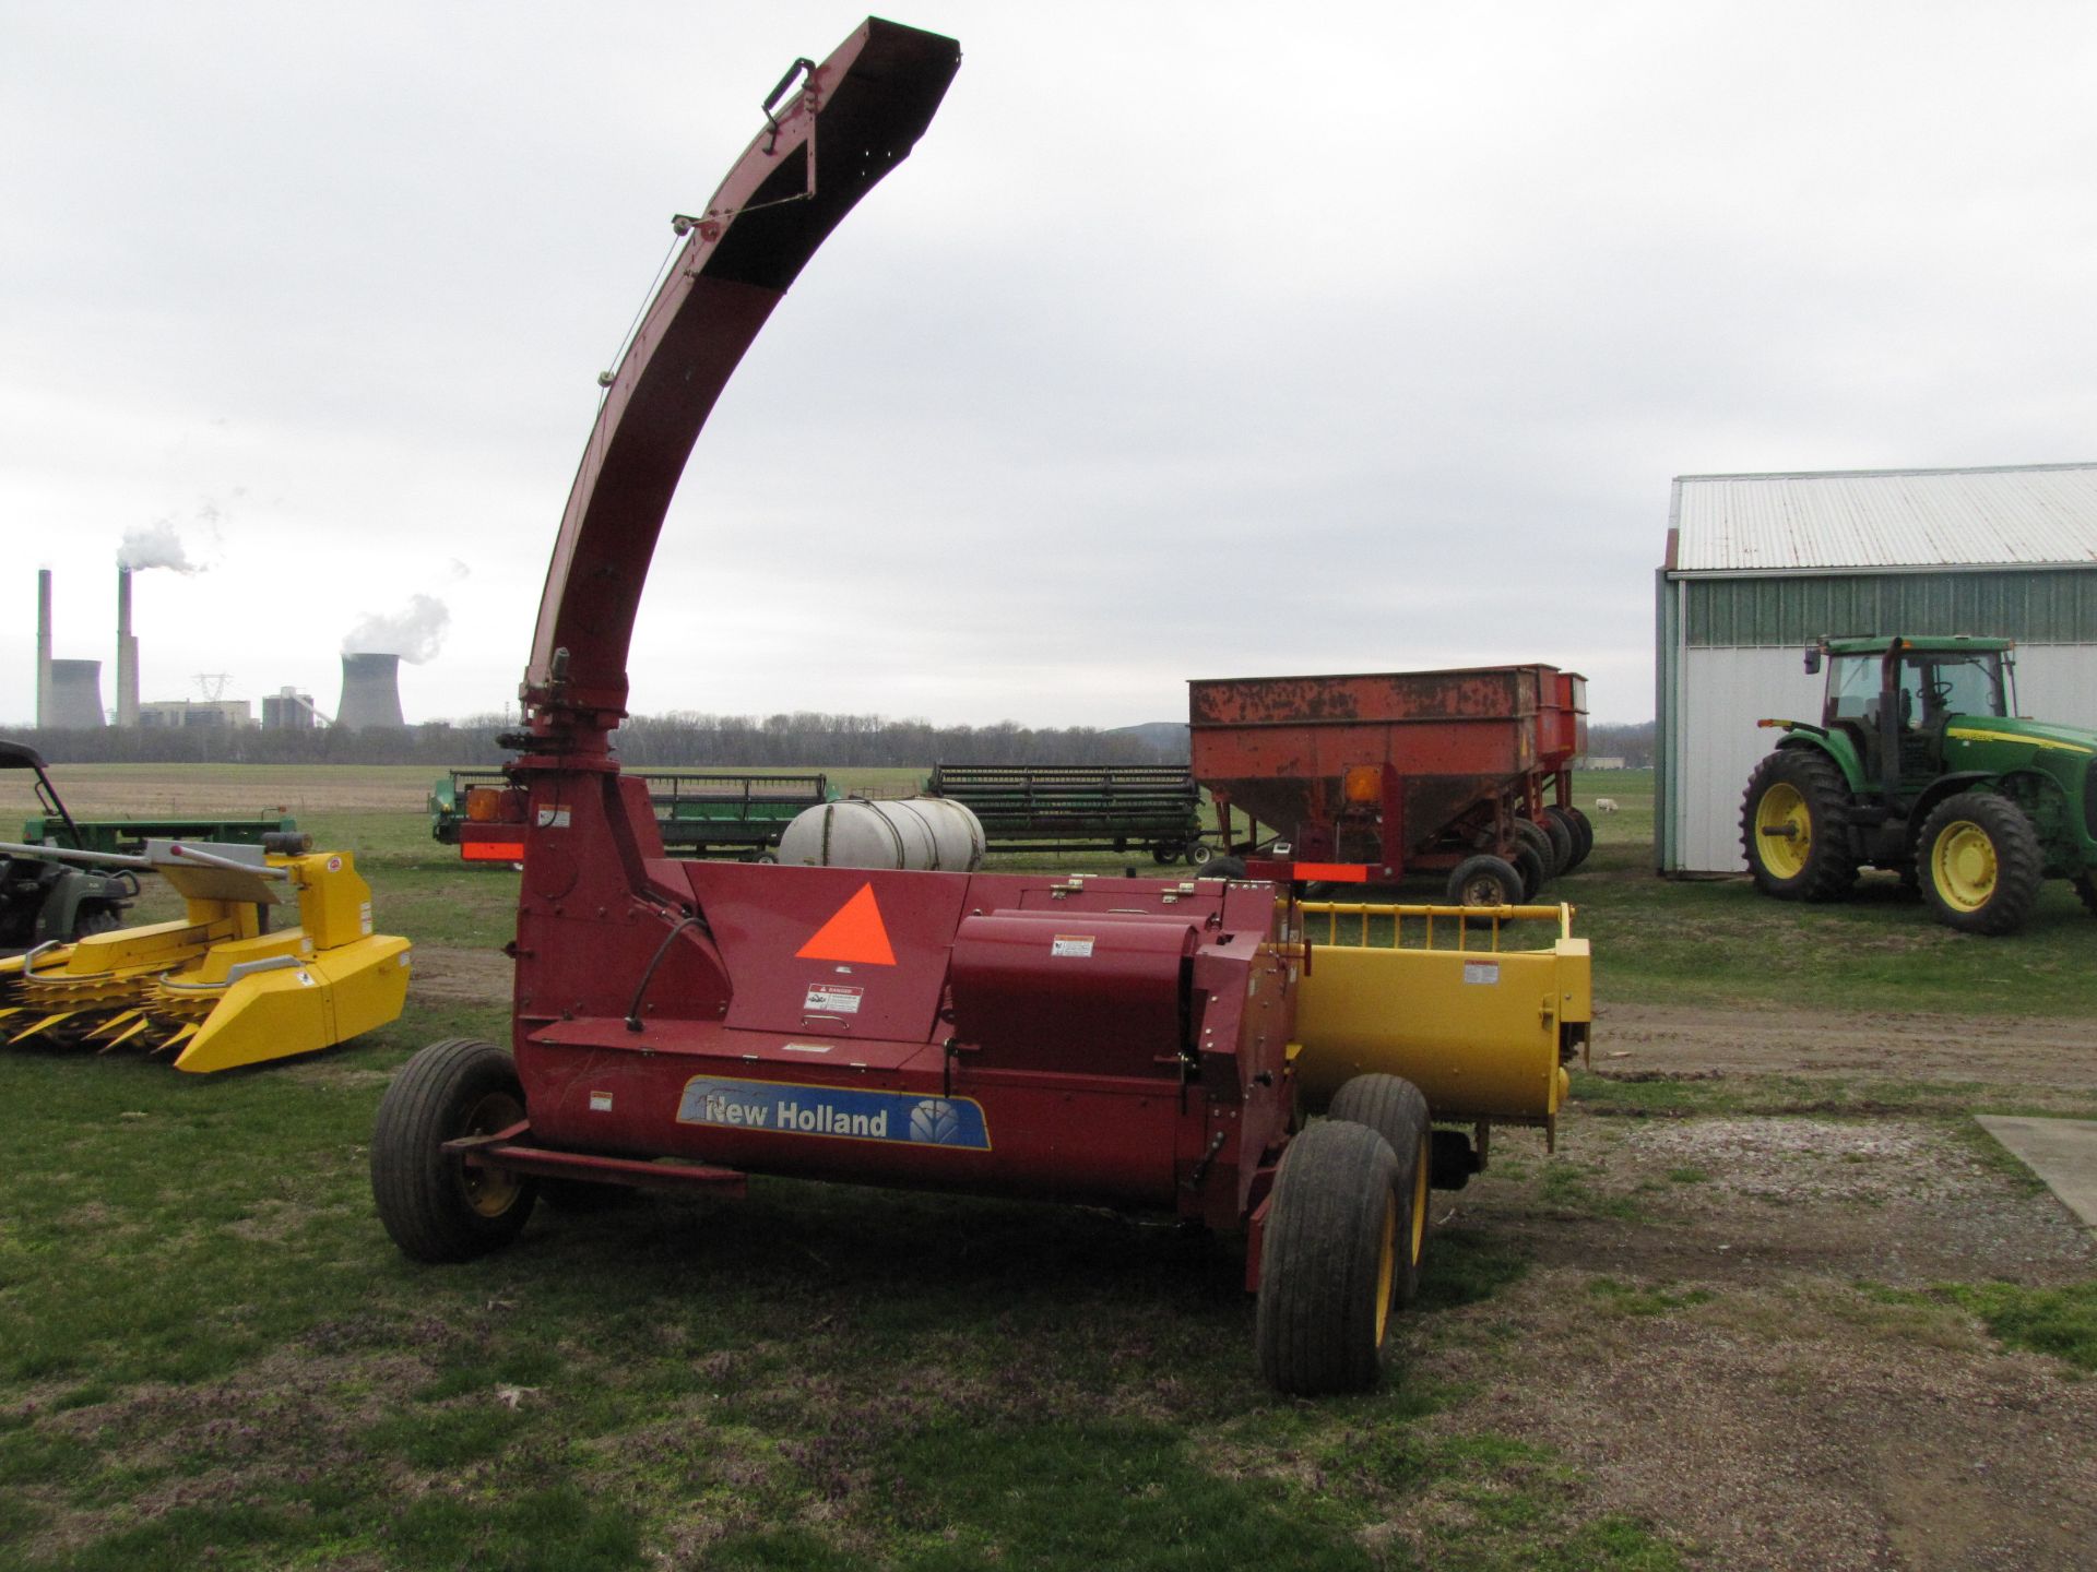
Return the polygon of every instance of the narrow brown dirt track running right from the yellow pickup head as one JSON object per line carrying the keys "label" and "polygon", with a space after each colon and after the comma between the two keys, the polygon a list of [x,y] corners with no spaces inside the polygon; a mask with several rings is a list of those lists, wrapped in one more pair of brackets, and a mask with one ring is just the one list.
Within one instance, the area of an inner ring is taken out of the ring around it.
{"label": "narrow brown dirt track running right from the yellow pickup head", "polygon": [[1898,1075],[2097,1088],[2097,1021],[1600,1004],[1604,1073]]}

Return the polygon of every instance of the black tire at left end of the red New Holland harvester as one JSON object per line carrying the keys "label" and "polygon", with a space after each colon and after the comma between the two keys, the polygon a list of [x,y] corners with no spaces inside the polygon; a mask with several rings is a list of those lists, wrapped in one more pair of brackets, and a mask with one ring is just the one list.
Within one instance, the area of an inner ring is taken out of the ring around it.
{"label": "black tire at left end of the red New Holland harvester", "polygon": [[468,1262],[501,1249],[531,1218],[531,1178],[468,1167],[440,1147],[524,1117],[510,1054],[478,1038],[432,1042],[394,1075],[371,1134],[371,1199],[380,1222],[417,1262]]}

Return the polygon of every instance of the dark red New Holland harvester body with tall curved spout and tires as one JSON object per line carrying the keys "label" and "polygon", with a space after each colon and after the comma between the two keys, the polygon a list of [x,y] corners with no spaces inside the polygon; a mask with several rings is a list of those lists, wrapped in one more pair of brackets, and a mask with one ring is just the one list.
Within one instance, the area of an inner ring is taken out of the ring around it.
{"label": "dark red New Holland harvester body with tall curved spout and tires", "polygon": [[[958,63],[950,38],[868,21],[797,61],[707,210],[675,220],[684,249],[568,497],[510,740],[510,1050],[447,1040],[394,1079],[380,1218],[411,1258],[453,1262],[514,1239],[547,1180],[795,1174],[1158,1209],[1248,1237],[1273,1383],[1363,1388],[1418,1281],[1428,1105],[1355,1075],[1298,1128],[1311,952],[1285,885],[677,861],[610,752],[698,430]],[[1556,1061],[1533,1079],[1556,1109]]]}

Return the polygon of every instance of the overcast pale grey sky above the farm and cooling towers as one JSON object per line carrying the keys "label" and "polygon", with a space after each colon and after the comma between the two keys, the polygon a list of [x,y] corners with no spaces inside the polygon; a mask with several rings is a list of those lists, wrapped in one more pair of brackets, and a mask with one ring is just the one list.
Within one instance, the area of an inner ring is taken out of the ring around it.
{"label": "overcast pale grey sky above the farm and cooling towers", "polygon": [[[514,702],[596,375],[847,4],[0,0],[0,721],[442,608]],[[1543,660],[1652,713],[1678,474],[2097,459],[2097,8],[965,4],[700,436],[633,708],[1126,725]],[[424,604],[424,610],[430,610]],[[432,618],[434,620],[434,618]],[[407,635],[405,633],[405,635]]]}

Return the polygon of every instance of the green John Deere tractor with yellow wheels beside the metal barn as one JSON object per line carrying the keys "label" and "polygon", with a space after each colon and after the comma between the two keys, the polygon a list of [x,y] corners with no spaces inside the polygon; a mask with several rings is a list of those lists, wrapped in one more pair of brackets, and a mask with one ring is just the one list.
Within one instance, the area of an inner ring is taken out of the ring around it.
{"label": "green John Deere tractor with yellow wheels beside the metal barn", "polygon": [[1820,725],[1785,729],[1741,805],[1764,895],[1839,901],[1858,868],[1961,933],[2015,933],[2045,878],[2097,916],[2097,732],[2015,713],[2009,639],[1822,639]]}

